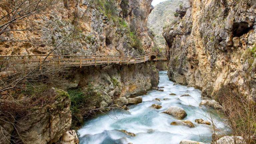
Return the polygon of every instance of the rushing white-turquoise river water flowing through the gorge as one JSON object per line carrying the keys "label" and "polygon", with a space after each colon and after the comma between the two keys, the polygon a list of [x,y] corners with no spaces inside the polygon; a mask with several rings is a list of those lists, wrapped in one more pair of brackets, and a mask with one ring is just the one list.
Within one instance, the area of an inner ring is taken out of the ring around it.
{"label": "rushing white-turquoise river water flowing through the gorge", "polygon": [[[211,143],[213,130],[211,126],[197,124],[195,119],[210,118],[209,110],[199,107],[201,102],[201,91],[193,87],[173,85],[168,79],[167,71],[159,72],[159,87],[163,86],[164,91],[149,91],[143,95],[143,102],[137,105],[130,105],[129,111],[112,111],[105,115],[85,121],[84,126],[78,130],[80,133],[80,144],[179,144],[182,139],[189,139]],[[177,95],[172,96],[170,93]],[[182,94],[189,96],[180,97]],[[161,101],[156,101],[160,98]],[[168,98],[167,100],[163,100]],[[153,109],[152,104],[159,104],[160,109]],[[161,113],[170,106],[178,106],[185,109],[187,116],[184,120],[194,123],[194,128],[186,126],[170,125],[176,118]],[[219,117],[210,110],[215,125],[224,127]],[[127,130],[135,133],[132,137],[118,130]]]}

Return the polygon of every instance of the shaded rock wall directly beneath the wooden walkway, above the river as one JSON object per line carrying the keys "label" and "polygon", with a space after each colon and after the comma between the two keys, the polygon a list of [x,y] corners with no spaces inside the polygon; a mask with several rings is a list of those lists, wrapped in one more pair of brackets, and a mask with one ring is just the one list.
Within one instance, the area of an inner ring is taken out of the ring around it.
{"label": "shaded rock wall directly beneath the wooden walkway, above the river", "polygon": [[[85,67],[72,76],[72,82],[81,88],[93,84],[102,93],[101,103],[105,106],[112,101],[114,104],[123,106],[127,104],[125,98],[146,94],[151,87],[156,87],[159,74],[151,63],[104,68],[99,66],[94,69]],[[95,106],[102,107],[100,104]]]}

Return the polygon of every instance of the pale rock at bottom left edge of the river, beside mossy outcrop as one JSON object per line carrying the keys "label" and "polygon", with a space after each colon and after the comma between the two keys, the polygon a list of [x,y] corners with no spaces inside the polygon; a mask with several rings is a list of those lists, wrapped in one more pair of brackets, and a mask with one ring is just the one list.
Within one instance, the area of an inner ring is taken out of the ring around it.
{"label": "pale rock at bottom left edge of the river, beside mossy outcrop", "polygon": [[75,130],[67,131],[61,137],[61,144],[78,144],[79,139]]}

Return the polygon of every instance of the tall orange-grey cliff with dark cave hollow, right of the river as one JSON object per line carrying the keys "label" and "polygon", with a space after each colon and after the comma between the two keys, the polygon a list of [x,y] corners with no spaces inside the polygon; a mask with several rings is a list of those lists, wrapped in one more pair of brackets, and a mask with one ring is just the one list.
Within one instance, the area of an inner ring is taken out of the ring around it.
{"label": "tall orange-grey cliff with dark cave hollow, right of the river", "polygon": [[255,7],[252,0],[185,0],[182,19],[163,32],[169,79],[206,96],[228,86],[256,101]]}

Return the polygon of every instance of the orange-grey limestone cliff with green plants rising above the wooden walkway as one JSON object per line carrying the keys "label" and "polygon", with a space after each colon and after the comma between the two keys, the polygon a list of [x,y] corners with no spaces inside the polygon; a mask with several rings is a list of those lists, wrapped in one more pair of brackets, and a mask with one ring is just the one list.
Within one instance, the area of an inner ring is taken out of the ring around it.
{"label": "orange-grey limestone cliff with green plants rising above the wooden walkway", "polygon": [[[61,0],[37,15],[13,22],[0,35],[0,54],[126,55],[151,50],[147,17],[152,0]],[[11,8],[2,3],[0,16]],[[8,21],[3,18],[1,24]],[[20,29],[39,29],[13,31]],[[22,41],[19,41],[22,40]],[[14,42],[19,41],[19,42]]]}

